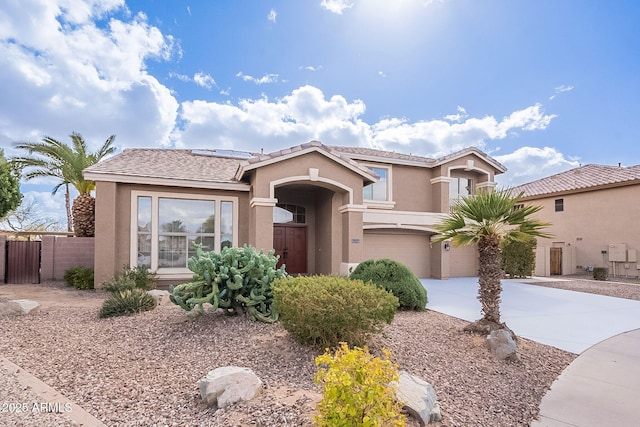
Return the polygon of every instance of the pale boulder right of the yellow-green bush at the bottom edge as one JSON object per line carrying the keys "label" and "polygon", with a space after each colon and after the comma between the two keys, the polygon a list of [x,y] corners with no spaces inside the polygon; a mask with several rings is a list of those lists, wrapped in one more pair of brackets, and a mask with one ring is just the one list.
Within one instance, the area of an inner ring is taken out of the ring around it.
{"label": "pale boulder right of the yellow-green bush at the bottom edge", "polygon": [[403,409],[421,425],[440,421],[442,415],[433,386],[407,371],[400,371],[399,374],[396,399],[402,402]]}

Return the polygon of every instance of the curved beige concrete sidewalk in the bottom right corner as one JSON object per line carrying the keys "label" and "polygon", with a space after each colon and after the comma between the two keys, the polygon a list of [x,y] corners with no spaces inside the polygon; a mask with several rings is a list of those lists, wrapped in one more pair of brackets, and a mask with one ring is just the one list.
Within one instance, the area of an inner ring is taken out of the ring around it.
{"label": "curved beige concrete sidewalk in the bottom right corner", "polygon": [[640,329],[586,350],[542,398],[531,427],[640,425]]}

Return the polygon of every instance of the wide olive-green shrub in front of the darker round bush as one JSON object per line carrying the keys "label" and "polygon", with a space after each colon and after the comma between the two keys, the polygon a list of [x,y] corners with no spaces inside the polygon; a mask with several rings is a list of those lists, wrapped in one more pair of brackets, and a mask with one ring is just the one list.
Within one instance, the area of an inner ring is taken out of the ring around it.
{"label": "wide olive-green shrub in front of the darker round bush", "polygon": [[335,276],[289,277],[273,284],[284,328],[308,345],[364,345],[391,323],[398,298],[361,280]]}

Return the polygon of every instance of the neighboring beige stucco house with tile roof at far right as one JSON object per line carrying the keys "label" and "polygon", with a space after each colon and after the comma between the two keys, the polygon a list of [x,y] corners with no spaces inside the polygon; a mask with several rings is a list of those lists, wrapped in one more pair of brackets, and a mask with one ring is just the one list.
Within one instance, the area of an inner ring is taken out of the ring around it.
{"label": "neighboring beige stucco house with tile roof at far right", "polygon": [[540,205],[551,239],[538,239],[537,275],[608,267],[610,276],[638,277],[640,165],[586,165],[513,188]]}

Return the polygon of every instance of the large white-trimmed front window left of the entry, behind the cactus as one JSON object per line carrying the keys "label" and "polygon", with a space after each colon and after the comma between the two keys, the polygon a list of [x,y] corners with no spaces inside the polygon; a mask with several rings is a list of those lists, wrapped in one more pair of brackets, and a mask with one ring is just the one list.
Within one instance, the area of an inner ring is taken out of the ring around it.
{"label": "large white-trimmed front window left of the entry, behind the cactus", "polygon": [[131,265],[184,270],[196,245],[216,252],[237,245],[237,204],[236,198],[133,192]]}

